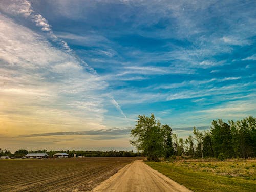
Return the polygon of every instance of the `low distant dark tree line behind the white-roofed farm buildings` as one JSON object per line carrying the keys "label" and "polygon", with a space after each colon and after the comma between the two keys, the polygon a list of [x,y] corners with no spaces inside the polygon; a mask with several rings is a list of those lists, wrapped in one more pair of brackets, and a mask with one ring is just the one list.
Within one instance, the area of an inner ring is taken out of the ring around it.
{"label": "low distant dark tree line behind the white-roofed farm buildings", "polygon": [[25,150],[25,149],[19,149],[12,154],[9,150],[1,150],[0,148],[0,156],[9,156],[14,158],[22,158],[23,156],[27,155],[28,153],[47,153],[50,158],[53,157],[55,153],[62,152],[67,153],[70,155],[70,157],[74,157],[74,154],[76,156],[84,156],[84,157],[136,157],[141,156],[141,153],[139,152],[133,152],[133,151],[75,151],[75,150],[60,150],[60,151],[47,151],[47,150]]}

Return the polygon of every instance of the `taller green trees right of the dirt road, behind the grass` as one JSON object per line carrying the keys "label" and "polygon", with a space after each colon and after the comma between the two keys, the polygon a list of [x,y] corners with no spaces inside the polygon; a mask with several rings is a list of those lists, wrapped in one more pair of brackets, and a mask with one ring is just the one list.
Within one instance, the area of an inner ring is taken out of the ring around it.
{"label": "taller green trees right of the dirt road, behind the grass", "polygon": [[256,118],[246,117],[228,123],[213,120],[210,130],[201,132],[194,127],[193,135],[179,138],[169,125],[162,125],[154,114],[139,115],[131,130],[131,144],[150,161],[175,156],[204,158],[249,158],[256,156]]}

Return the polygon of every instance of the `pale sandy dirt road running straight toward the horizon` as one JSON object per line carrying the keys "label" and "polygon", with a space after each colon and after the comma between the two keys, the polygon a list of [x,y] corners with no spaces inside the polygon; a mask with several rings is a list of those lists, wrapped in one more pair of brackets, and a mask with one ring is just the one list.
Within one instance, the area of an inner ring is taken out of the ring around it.
{"label": "pale sandy dirt road running straight toward the horizon", "polygon": [[142,160],[134,161],[103,181],[93,191],[190,191],[170,178],[152,169]]}

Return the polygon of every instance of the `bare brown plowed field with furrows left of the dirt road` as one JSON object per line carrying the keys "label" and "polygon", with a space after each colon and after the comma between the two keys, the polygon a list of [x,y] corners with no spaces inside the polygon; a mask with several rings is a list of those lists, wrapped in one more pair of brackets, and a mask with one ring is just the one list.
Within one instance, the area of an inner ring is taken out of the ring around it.
{"label": "bare brown plowed field with furrows left of the dirt road", "polygon": [[0,160],[1,191],[90,191],[141,157]]}

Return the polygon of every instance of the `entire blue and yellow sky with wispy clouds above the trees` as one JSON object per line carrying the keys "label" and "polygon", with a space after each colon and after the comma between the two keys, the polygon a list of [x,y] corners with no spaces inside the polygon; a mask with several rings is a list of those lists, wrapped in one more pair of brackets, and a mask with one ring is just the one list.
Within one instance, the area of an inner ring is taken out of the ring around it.
{"label": "entire blue and yellow sky with wispy clouds above the trees", "polygon": [[0,148],[132,150],[256,114],[255,1],[0,1]]}

